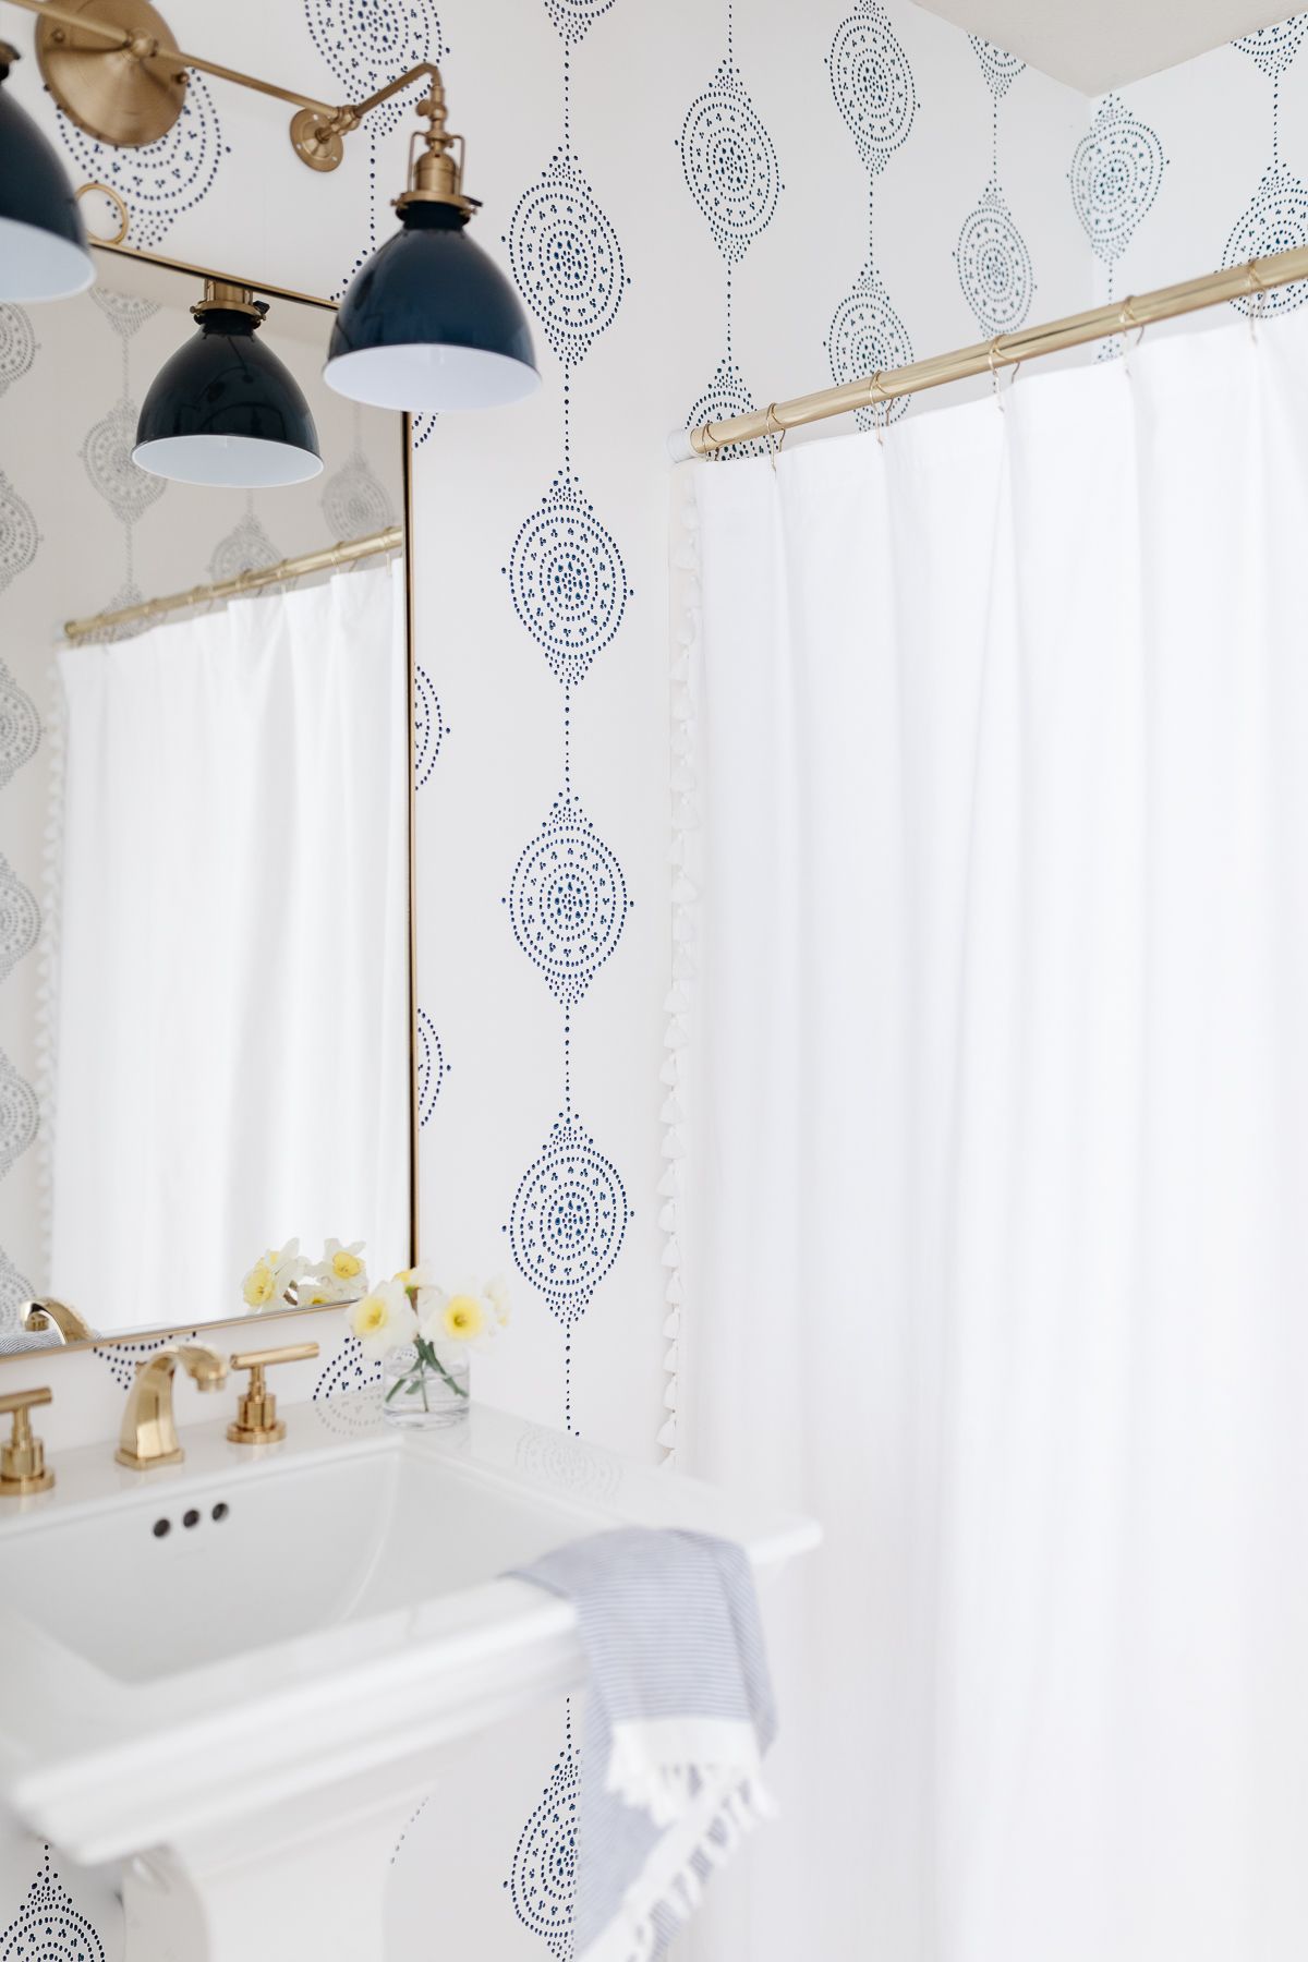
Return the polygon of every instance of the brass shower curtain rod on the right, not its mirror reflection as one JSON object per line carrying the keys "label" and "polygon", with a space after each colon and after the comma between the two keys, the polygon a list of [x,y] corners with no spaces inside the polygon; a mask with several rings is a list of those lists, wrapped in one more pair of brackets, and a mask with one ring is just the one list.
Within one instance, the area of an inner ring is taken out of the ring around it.
{"label": "brass shower curtain rod on the right, not its mirror reflection", "polygon": [[1181,314],[1196,314],[1204,306],[1222,306],[1224,300],[1257,298],[1257,294],[1288,286],[1296,279],[1308,279],[1308,247],[1302,245],[1294,251],[1269,253],[1265,259],[1249,259],[1224,273],[1182,279],[1177,286],[1159,286],[1157,292],[1112,300],[1108,306],[1090,306],[1084,314],[1067,314],[1043,328],[996,334],[990,341],[959,347],[951,355],[910,361],[902,369],[879,369],[877,375],[867,375],[863,381],[847,381],[837,388],[818,388],[816,394],[796,394],[788,402],[771,402],[769,408],[749,410],[747,416],[706,422],[702,428],[690,430],[688,436],[680,436],[673,447],[679,457],[708,457],[731,443],[757,443],[767,436],[780,438],[786,430],[798,430],[806,422],[847,416],[855,408],[879,410],[900,394],[920,394],[922,388],[939,388],[947,381],[965,381],[971,375],[996,375],[998,369],[1018,367],[1022,361],[1053,355],[1063,347],[1084,347],[1112,334],[1149,328],[1157,320],[1177,320]]}

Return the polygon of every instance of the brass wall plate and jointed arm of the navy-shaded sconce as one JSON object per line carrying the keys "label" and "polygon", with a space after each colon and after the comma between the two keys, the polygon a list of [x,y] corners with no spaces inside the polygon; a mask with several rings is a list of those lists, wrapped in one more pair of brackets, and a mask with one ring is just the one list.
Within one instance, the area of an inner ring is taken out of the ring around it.
{"label": "brass wall plate and jointed arm of the navy-shaded sconce", "polygon": [[[186,102],[186,71],[212,75],[237,88],[290,102],[290,147],[310,171],[335,171],[345,157],[345,143],[365,116],[382,102],[429,80],[428,104],[420,114],[439,114],[435,145],[428,135],[428,153],[447,157],[447,145],[463,145],[463,137],[445,135],[445,90],[441,71],[431,61],[420,61],[392,82],[377,88],[363,102],[322,102],[302,88],[282,88],[261,75],[229,69],[204,55],[188,55],[173,39],[173,31],[149,0],[10,0],[37,16],[35,51],[41,80],[59,108],[100,143],[118,149],[141,149],[167,135]],[[445,202],[461,202],[463,151],[457,165],[449,159],[451,194]],[[471,208],[471,206],[469,206]]]}

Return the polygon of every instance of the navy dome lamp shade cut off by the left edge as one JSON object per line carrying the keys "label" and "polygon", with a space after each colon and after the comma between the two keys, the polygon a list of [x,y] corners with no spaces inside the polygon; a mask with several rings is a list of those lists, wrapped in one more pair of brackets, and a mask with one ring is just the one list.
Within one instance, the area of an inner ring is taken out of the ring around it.
{"label": "navy dome lamp shade cut off by the left edge", "polygon": [[67,300],[96,271],[69,173],[2,86],[16,61],[0,41],[0,300]]}

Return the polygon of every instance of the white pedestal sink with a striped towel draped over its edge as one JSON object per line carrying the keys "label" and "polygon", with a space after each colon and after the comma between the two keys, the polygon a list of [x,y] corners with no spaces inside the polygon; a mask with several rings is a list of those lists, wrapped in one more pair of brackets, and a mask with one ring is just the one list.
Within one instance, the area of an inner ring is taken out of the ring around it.
{"label": "white pedestal sink with a striped towel draped over its edge", "polygon": [[571,1607],[506,1568],[626,1523],[724,1534],[759,1570],[818,1538],[496,1411],[284,1415],[284,1444],[192,1426],[149,1473],[69,1452],[0,1511],[0,1805],[124,1862],[127,1962],[382,1962],[390,1854],[437,1766],[584,1676]]}

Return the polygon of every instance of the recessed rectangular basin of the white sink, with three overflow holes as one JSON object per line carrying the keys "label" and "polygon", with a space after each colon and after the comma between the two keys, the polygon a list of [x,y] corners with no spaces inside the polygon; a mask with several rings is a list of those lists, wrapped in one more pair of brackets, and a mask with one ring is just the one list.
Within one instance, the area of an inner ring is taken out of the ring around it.
{"label": "recessed rectangular basin of the white sink, with three overflow holes", "polygon": [[[147,1683],[445,1601],[529,1562],[577,1517],[414,1432],[265,1466],[227,1450],[210,1472],[192,1448],[176,1487],[127,1473],[112,1501],[0,1532],[0,1595],[45,1640]],[[412,1613],[406,1626],[418,1634]]]}

